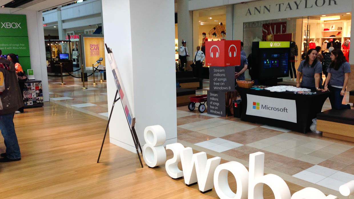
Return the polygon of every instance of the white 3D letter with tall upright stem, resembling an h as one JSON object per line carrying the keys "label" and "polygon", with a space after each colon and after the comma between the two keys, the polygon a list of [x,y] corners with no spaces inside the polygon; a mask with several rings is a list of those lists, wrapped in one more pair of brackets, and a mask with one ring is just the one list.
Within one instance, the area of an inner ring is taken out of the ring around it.
{"label": "white 3D letter with tall upright stem, resembling an h", "polygon": [[263,184],[268,185],[275,199],[290,199],[290,190],[281,177],[274,174],[264,174],[264,153],[250,154],[248,199],[263,199]]}

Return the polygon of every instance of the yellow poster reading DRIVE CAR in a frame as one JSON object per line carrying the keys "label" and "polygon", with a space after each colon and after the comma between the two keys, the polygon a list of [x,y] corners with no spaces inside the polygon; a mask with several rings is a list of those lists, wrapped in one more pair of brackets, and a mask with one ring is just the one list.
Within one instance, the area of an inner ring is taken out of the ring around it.
{"label": "yellow poster reading DRIVE CAR in a frame", "polygon": [[[84,37],[85,66],[92,67],[99,58],[103,58],[101,64],[105,66],[103,37]],[[95,64],[97,67],[98,64]]]}

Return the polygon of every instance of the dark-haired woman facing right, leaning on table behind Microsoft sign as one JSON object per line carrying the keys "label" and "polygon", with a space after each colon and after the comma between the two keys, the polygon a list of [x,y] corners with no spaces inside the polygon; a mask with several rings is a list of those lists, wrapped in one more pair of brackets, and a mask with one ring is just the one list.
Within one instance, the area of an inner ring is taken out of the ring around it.
{"label": "dark-haired woman facing right, leaning on table behind Microsoft sign", "polygon": [[[314,48],[306,53],[305,60],[302,60],[297,69],[296,87],[321,90],[322,86],[322,64],[317,59],[317,51]],[[300,84],[300,78],[302,82]]]}

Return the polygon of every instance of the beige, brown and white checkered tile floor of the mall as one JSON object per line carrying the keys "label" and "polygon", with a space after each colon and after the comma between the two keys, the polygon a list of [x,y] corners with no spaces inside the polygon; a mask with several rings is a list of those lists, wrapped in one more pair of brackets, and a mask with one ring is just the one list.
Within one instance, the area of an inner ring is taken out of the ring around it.
{"label": "beige, brown and white checkered tile floor of the mall", "polygon": [[[72,109],[108,119],[105,82],[92,86],[92,76],[81,90],[78,78],[64,77],[67,86],[59,85],[59,77],[50,77],[50,100]],[[98,75],[96,75],[98,79]],[[88,83],[88,85],[87,85]],[[205,89],[196,94],[206,94]],[[348,101],[346,95],[344,101]],[[330,109],[329,100],[322,110]],[[339,185],[354,180],[354,143],[330,139],[313,133],[297,133],[263,124],[241,121],[239,118],[219,117],[187,106],[177,107],[177,139],[248,162],[249,154],[264,152],[264,165],[284,175],[316,185],[338,190]]]}

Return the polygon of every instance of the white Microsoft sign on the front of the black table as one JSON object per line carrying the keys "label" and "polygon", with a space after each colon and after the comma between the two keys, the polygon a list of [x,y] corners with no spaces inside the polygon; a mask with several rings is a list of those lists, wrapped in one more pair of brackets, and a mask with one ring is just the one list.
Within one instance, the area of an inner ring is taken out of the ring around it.
{"label": "white Microsoft sign on the front of the black table", "polygon": [[295,100],[247,94],[246,115],[297,123]]}

